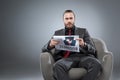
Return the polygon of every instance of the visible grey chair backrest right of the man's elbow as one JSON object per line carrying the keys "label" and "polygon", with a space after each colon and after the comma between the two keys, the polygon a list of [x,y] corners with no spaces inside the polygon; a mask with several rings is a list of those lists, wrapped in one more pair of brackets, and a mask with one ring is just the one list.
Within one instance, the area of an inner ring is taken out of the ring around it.
{"label": "visible grey chair backrest right of the man's elbow", "polygon": [[103,59],[103,56],[106,54],[105,52],[107,52],[107,48],[106,48],[106,45],[104,43],[103,40],[101,39],[98,39],[98,38],[92,38],[94,44],[95,44],[95,47],[97,49],[97,56],[98,56],[98,59],[100,61],[102,61]]}

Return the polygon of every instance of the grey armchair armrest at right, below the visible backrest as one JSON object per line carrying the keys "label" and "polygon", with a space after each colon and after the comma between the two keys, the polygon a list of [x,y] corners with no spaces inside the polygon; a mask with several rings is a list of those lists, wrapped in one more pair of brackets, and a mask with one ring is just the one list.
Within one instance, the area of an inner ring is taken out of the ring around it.
{"label": "grey armchair armrest at right, below the visible backrest", "polygon": [[110,80],[110,76],[113,70],[113,55],[112,52],[105,52],[102,59],[103,63],[103,77],[104,80]]}

